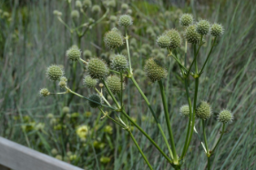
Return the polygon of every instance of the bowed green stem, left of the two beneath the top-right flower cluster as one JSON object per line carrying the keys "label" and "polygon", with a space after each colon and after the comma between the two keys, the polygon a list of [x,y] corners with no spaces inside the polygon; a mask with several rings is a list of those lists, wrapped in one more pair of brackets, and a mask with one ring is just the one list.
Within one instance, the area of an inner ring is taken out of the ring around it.
{"label": "bowed green stem, left of the two beneath the top-right flower cluster", "polygon": [[188,128],[187,128],[187,135],[186,135],[186,140],[185,140],[185,144],[183,146],[183,150],[182,150],[182,154],[180,156],[180,158],[182,159],[184,156],[185,156],[185,153],[186,153],[186,147],[188,145],[188,142],[189,142],[189,131],[191,129],[191,120],[192,120],[192,105],[191,105],[191,99],[190,99],[190,96],[189,96],[189,80],[188,78],[185,78],[185,89],[186,89],[186,95],[187,95],[187,98],[188,98],[188,102],[189,102],[189,125],[188,125]]}

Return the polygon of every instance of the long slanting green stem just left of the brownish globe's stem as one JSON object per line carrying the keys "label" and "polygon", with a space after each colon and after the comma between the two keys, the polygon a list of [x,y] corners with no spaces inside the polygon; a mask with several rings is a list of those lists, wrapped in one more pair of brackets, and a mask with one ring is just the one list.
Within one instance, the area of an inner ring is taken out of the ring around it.
{"label": "long slanting green stem just left of the brownish globe's stem", "polygon": [[148,108],[149,108],[149,110],[151,111],[151,114],[153,115],[153,117],[154,117],[154,119],[155,119],[155,121],[156,121],[156,123],[157,123],[157,125],[158,125],[158,127],[159,127],[159,131],[160,131],[161,135],[163,136],[164,141],[165,141],[165,143],[166,143],[166,145],[167,145],[167,147],[168,147],[169,155],[170,155],[170,157],[173,159],[173,154],[172,154],[172,151],[171,151],[171,149],[170,149],[170,146],[169,146],[168,140],[167,140],[167,138],[166,138],[166,135],[164,134],[164,132],[163,132],[163,130],[162,130],[162,127],[161,127],[161,125],[159,124],[159,120],[158,120],[158,118],[157,118],[157,116],[156,116],[156,114],[155,114],[155,112],[154,112],[152,106],[151,106],[150,103],[148,102],[147,96],[144,95],[144,93],[142,92],[142,90],[141,90],[140,87],[138,86],[138,84],[137,84],[136,80],[134,79],[134,77],[131,76],[130,79],[131,79],[131,81],[133,82],[133,84],[136,86],[136,88],[138,89],[139,94],[143,97],[143,99],[145,100],[146,104],[148,105]]}

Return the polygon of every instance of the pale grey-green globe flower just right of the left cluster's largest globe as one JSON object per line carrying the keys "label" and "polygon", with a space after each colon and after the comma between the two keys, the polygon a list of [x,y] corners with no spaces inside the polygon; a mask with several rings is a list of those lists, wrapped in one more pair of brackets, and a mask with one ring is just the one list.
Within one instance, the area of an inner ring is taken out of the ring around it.
{"label": "pale grey-green globe flower just right of the left cluster's largest globe", "polygon": [[123,72],[128,68],[128,60],[125,55],[115,55],[111,60],[111,67],[118,72]]}

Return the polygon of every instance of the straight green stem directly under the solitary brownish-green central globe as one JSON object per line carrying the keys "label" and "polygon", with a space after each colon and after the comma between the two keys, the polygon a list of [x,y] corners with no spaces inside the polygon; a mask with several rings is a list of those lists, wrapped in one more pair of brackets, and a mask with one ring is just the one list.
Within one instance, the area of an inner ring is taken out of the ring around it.
{"label": "straight green stem directly under the solitary brownish-green central globe", "polygon": [[162,96],[162,102],[163,102],[163,106],[164,106],[164,113],[165,113],[166,124],[167,124],[168,131],[169,131],[170,145],[171,145],[171,149],[172,149],[172,152],[173,152],[173,161],[174,161],[174,164],[179,164],[179,159],[178,159],[178,156],[176,154],[174,138],[173,138],[173,135],[172,135],[171,126],[170,126],[170,122],[169,122],[169,111],[168,111],[168,106],[167,106],[167,102],[166,102],[164,86],[163,86],[161,80],[159,81],[159,87],[160,87],[160,92],[161,92],[161,96]]}

